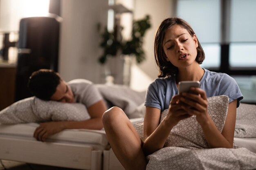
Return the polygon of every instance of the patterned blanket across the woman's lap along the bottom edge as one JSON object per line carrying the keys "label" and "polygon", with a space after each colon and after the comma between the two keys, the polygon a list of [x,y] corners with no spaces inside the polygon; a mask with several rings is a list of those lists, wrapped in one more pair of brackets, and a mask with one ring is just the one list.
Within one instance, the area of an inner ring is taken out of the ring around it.
{"label": "patterned blanket across the woman's lap along the bottom edge", "polygon": [[167,147],[147,157],[147,170],[255,170],[256,154],[246,148]]}

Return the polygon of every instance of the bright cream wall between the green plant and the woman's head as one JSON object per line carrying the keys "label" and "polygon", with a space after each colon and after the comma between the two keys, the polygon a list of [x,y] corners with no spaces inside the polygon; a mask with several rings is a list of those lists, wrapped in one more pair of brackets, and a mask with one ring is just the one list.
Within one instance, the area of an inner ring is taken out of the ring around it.
{"label": "bright cream wall between the green plant and the woman's head", "polygon": [[133,15],[134,19],[150,15],[151,28],[144,37],[143,48],[146,54],[146,61],[133,66],[133,74],[130,86],[138,91],[147,89],[158,75],[158,69],[154,57],[155,31],[160,22],[173,15],[173,0],[135,0]]}

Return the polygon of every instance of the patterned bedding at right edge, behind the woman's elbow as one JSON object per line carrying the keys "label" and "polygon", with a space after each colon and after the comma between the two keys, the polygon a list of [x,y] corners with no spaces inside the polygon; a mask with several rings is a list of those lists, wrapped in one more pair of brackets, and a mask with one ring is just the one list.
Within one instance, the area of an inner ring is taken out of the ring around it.
{"label": "patterned bedding at right edge, behind the woman's elbow", "polygon": [[256,137],[256,105],[243,104],[236,111],[234,137]]}

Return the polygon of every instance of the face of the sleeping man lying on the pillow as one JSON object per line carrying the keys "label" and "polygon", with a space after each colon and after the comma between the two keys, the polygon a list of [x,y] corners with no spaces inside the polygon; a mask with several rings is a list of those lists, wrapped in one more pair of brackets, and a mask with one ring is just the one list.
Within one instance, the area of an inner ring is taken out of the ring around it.
{"label": "face of the sleeping man lying on the pillow", "polygon": [[58,84],[56,92],[52,95],[51,100],[63,103],[74,103],[75,101],[70,86],[64,80],[60,80],[60,84]]}

